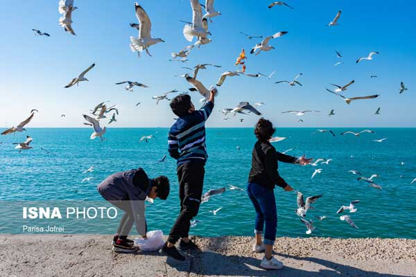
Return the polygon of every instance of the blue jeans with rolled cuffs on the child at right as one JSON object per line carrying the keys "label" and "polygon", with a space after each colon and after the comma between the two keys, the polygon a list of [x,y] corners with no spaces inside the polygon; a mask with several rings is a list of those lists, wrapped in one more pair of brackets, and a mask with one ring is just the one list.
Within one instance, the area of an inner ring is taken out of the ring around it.
{"label": "blue jeans with rolled cuffs on the child at right", "polygon": [[254,233],[263,234],[263,226],[266,223],[264,231],[264,244],[275,244],[277,232],[277,211],[275,193],[273,190],[263,188],[256,183],[248,183],[247,194],[256,210],[256,224]]}

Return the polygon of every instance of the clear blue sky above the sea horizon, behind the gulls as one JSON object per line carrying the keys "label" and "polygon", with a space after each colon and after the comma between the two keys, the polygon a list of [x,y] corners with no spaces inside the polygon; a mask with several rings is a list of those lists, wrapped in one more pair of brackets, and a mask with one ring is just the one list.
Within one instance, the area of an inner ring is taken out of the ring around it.
{"label": "clear blue sky above the sea horizon, behind the gulls", "polygon": [[[184,24],[191,21],[187,0],[139,1],[153,23],[153,37],[166,42],[150,47],[153,57],[140,58],[129,48],[130,35],[137,31],[129,26],[136,22],[134,1],[75,1],[73,28],[69,35],[59,26],[58,0],[6,1],[0,10],[0,126],[15,125],[28,116],[31,109],[39,114],[29,127],[82,127],[81,114],[98,102],[110,100],[119,107],[118,122],[110,127],[167,127],[175,117],[168,101],[156,105],[152,96],[171,89],[186,90],[189,84],[173,75],[184,73],[181,66],[214,63],[223,67],[200,71],[198,79],[207,87],[215,84],[221,73],[236,70],[236,57],[241,48],[246,52],[261,39],[247,39],[239,32],[272,35],[288,31],[270,44],[275,50],[254,56],[248,54],[248,73],[271,73],[271,80],[245,76],[227,78],[216,99],[216,108],[209,119],[211,127],[251,127],[257,116],[223,120],[218,112],[234,107],[240,101],[266,102],[259,110],[264,117],[281,127],[415,127],[413,114],[416,94],[414,76],[416,53],[413,1],[293,1],[295,9],[277,6],[268,9],[271,1],[217,0],[216,9],[223,15],[209,25],[213,42],[195,49],[189,62],[169,62],[171,52],[180,51],[189,43],[182,35]],[[162,3],[162,5],[161,5]],[[343,10],[339,26],[326,27],[338,10]],[[35,37],[31,28],[38,28],[51,37]],[[336,57],[335,51],[344,56]],[[380,54],[372,61],[356,64],[358,57],[370,51]],[[333,67],[335,62],[344,64]],[[90,64],[96,66],[87,75],[89,82],[64,89]],[[275,84],[291,80],[298,73],[303,87]],[[378,75],[378,78],[370,78]],[[131,93],[114,83],[137,80],[149,88],[135,88]],[[330,82],[347,84],[356,80],[346,96],[380,94],[378,99],[362,100],[346,105],[342,99],[325,91]],[[400,82],[409,90],[399,95]],[[198,93],[191,93],[198,102]],[[135,107],[136,102],[141,102]],[[381,115],[373,115],[381,107]],[[286,110],[314,109],[320,114],[307,114],[298,123]],[[335,109],[336,116],[327,116]],[[60,118],[66,114],[66,118]],[[103,121],[104,125],[107,123]]]}

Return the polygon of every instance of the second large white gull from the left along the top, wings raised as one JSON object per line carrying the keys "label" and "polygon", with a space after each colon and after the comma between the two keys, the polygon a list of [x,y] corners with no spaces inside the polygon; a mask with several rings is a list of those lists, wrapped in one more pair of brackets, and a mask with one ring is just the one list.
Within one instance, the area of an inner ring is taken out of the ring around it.
{"label": "second large white gull from the left along the top, wings raised", "polygon": [[138,3],[135,3],[135,10],[136,10],[136,17],[139,20],[139,37],[132,37],[130,36],[130,49],[133,52],[137,52],[137,55],[140,57],[141,51],[146,51],[146,53],[151,57],[148,48],[153,44],[157,44],[159,42],[164,42],[163,39],[160,38],[153,38],[150,35],[150,29],[152,28],[152,22],[150,22],[150,18],[148,17],[147,13],[144,11],[143,8]]}

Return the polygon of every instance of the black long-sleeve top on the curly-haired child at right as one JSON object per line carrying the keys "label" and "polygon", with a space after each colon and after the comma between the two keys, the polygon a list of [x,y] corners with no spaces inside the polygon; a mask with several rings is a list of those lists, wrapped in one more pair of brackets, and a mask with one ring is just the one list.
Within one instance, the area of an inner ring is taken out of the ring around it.
{"label": "black long-sleeve top on the curly-haired child at right", "polygon": [[257,141],[252,152],[252,168],[248,175],[248,181],[269,190],[273,190],[275,186],[286,187],[288,184],[277,171],[277,161],[296,163],[297,158],[277,152],[269,142]]}

